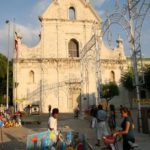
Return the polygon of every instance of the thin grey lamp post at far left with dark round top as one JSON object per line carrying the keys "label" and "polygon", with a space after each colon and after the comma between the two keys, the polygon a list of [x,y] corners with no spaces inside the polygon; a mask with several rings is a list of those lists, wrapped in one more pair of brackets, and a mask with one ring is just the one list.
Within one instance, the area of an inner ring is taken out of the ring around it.
{"label": "thin grey lamp post at far left with dark round top", "polygon": [[6,86],[6,108],[9,107],[9,40],[10,40],[10,22],[6,20],[6,24],[8,24],[8,43],[7,43],[7,86]]}

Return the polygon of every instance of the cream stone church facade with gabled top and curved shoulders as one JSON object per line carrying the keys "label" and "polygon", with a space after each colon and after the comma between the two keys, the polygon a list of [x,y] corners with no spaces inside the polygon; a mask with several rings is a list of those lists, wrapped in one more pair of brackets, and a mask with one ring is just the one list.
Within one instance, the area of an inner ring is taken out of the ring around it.
{"label": "cream stone church facade with gabled top and curved shoulders", "polygon": [[[42,112],[48,112],[48,105],[72,112],[77,105],[87,108],[95,104],[96,68],[91,57],[95,47],[88,53],[84,69],[80,53],[95,29],[101,31],[101,18],[88,0],[53,0],[39,20],[40,41],[35,47],[24,45],[16,34],[18,59],[13,64],[13,93],[18,109],[39,104]],[[120,37],[114,49],[101,42],[100,60],[102,83],[115,81],[119,85],[121,72],[127,67]],[[126,96],[122,92],[114,102],[119,105]]]}

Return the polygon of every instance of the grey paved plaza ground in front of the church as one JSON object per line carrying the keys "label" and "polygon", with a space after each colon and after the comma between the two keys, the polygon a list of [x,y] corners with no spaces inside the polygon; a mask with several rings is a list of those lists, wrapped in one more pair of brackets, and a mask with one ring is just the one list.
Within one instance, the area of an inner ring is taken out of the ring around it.
{"label": "grey paved plaza ground in front of the church", "polygon": [[[27,135],[47,131],[48,114],[41,115],[42,123],[38,124],[25,124],[23,127],[3,128],[3,144],[0,144],[0,150],[25,150]],[[117,115],[117,122],[120,124],[120,115]],[[96,132],[95,129],[90,128],[89,118],[74,119],[73,114],[61,114],[59,117],[59,127],[69,126],[74,131],[85,133],[88,141],[93,145],[94,150],[101,148],[95,147]],[[150,135],[141,134],[135,130],[136,143],[139,144],[141,150],[150,149]],[[121,142],[119,143],[121,148]]]}

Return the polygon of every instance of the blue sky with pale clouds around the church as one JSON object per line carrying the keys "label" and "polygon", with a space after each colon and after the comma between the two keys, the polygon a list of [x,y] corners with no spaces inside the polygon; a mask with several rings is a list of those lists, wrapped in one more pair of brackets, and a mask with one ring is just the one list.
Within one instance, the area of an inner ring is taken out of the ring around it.
{"label": "blue sky with pale clouds around the church", "polygon": [[[7,56],[9,49],[9,57],[12,56],[14,28],[23,36],[23,43],[29,47],[37,44],[39,40],[38,35],[40,33],[40,21],[38,20],[38,16],[42,15],[51,1],[52,0],[0,0],[0,53]],[[127,2],[127,0],[116,1],[119,2],[120,10],[122,4]],[[106,12],[107,14],[112,14],[114,11],[115,0],[90,0],[90,2],[103,21],[106,20]],[[10,26],[6,24],[6,20],[10,21]],[[13,26],[13,22],[15,22],[15,27]],[[112,34],[112,40],[110,41],[112,42],[110,42],[109,46],[106,40],[108,34],[106,34],[104,38],[106,45],[111,48],[115,47],[115,41],[118,35],[120,35],[124,40],[125,54],[130,56],[131,52],[128,47],[127,37],[121,26],[114,24],[110,27],[110,31]],[[8,41],[8,39],[10,40]],[[10,43],[9,47],[8,42]],[[150,10],[142,28],[141,47],[143,57],[150,57]]]}

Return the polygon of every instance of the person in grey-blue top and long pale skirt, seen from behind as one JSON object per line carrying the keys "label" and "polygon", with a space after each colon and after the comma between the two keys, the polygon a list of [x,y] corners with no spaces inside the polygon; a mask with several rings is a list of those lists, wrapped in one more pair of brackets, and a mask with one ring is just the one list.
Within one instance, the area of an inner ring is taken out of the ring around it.
{"label": "person in grey-blue top and long pale skirt, seen from behind", "polygon": [[97,143],[96,146],[100,146],[100,142],[102,141],[102,137],[104,135],[108,135],[108,130],[106,126],[107,113],[103,110],[102,105],[98,105],[97,111]]}

